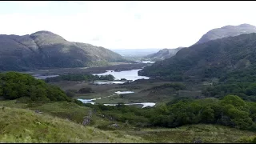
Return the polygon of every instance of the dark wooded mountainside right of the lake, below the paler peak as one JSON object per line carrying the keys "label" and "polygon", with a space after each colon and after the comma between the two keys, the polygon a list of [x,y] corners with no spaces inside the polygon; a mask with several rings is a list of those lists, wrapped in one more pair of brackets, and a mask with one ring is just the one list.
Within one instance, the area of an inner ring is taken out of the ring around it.
{"label": "dark wooded mountainside right of the lake, below the paler peak", "polygon": [[166,80],[220,78],[237,70],[254,74],[255,58],[256,34],[241,34],[183,48],[174,57],[155,62],[138,74]]}

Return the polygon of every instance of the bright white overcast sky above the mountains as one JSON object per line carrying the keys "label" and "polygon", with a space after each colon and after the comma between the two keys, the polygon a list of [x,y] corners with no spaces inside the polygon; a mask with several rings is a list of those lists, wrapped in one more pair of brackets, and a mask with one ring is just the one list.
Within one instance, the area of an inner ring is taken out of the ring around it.
{"label": "bright white overcast sky above the mountains", "polygon": [[207,31],[256,26],[255,1],[2,1],[0,34],[48,30],[107,49],[191,46]]}

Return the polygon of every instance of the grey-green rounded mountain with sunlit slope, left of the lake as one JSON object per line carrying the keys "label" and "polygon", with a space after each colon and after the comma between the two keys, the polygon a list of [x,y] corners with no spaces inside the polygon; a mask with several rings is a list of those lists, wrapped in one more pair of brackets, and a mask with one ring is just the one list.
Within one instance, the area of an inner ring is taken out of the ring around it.
{"label": "grey-green rounded mountain with sunlit slope, left of the lake", "polygon": [[101,46],[68,42],[50,31],[23,36],[0,35],[0,70],[83,67],[124,61]]}

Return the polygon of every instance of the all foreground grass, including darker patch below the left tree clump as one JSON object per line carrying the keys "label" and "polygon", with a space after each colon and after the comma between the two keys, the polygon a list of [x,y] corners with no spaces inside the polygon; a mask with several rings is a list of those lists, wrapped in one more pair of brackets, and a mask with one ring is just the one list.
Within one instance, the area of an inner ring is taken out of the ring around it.
{"label": "all foreground grass, including darker patch below the left tree clump", "polygon": [[[213,99],[214,100],[214,99]],[[211,102],[207,99],[206,102]],[[2,110],[2,106],[5,107]],[[7,107],[6,107],[7,106]],[[35,113],[40,110],[43,113]],[[0,101],[0,142],[250,142],[255,132],[218,125],[190,125],[178,128],[134,130],[122,122],[111,122],[93,114],[93,123],[82,126],[91,110],[70,102],[27,105]],[[111,128],[117,123],[119,128]]]}

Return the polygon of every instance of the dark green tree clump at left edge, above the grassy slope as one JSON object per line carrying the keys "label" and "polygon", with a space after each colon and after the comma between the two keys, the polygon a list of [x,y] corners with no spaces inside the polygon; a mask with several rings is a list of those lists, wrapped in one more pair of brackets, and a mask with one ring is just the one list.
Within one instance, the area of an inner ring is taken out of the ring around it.
{"label": "dark green tree clump at left edge, above the grassy slope", "polygon": [[57,86],[50,86],[29,74],[8,72],[0,74],[0,97],[5,99],[30,98],[31,101],[69,101],[71,98]]}

